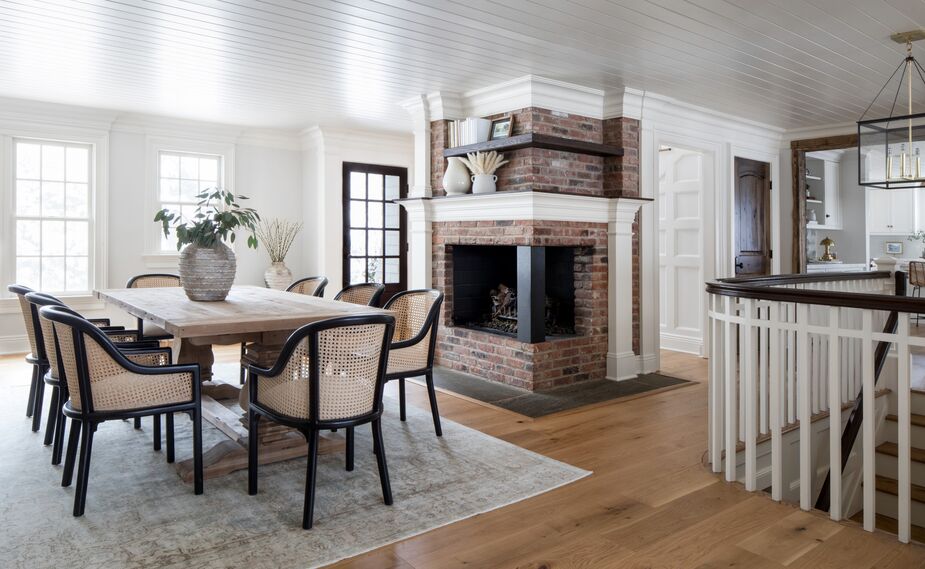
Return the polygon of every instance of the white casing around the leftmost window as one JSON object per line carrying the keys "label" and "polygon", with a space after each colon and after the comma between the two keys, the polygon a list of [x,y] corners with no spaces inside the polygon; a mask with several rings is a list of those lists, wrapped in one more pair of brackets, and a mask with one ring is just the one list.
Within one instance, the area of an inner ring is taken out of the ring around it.
{"label": "white casing around the leftmost window", "polygon": [[[0,279],[16,278],[15,158],[16,140],[89,145],[90,235],[89,289],[91,294],[62,295],[74,308],[95,309],[101,303],[92,291],[108,286],[109,260],[109,132],[79,127],[23,125],[0,127]],[[0,314],[19,312],[19,302],[4,286],[0,290]]]}

